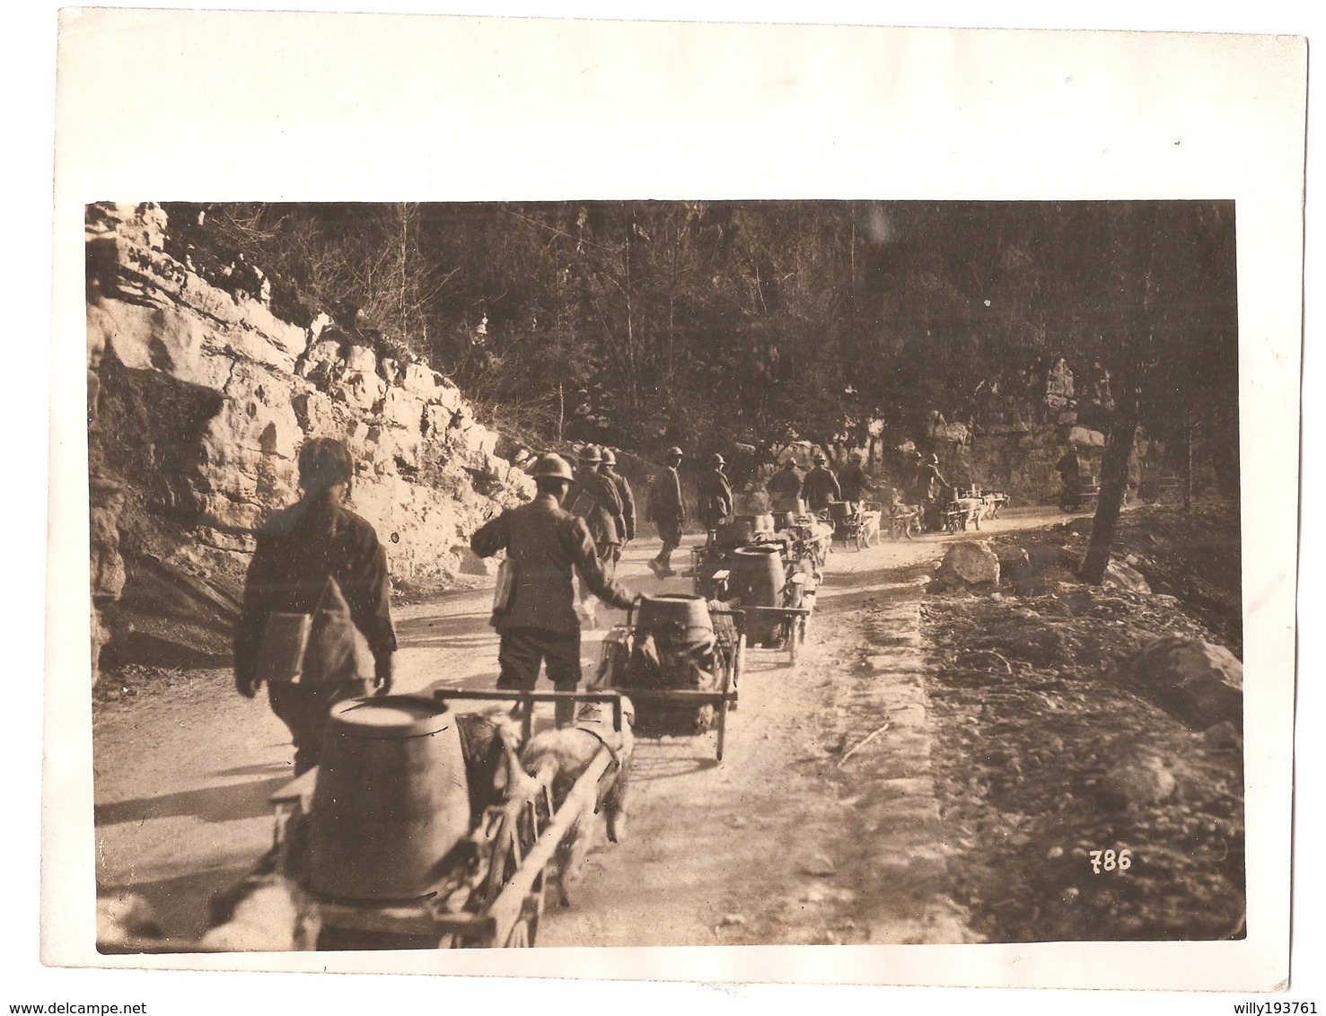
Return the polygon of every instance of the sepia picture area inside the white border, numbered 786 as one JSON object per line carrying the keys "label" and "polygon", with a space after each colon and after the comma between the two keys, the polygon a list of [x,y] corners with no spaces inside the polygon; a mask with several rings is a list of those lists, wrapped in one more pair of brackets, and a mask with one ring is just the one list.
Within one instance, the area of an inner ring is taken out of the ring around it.
{"label": "sepia picture area inside the white border, numbered 786", "polygon": [[89,206],[98,947],[1241,936],[1235,255]]}

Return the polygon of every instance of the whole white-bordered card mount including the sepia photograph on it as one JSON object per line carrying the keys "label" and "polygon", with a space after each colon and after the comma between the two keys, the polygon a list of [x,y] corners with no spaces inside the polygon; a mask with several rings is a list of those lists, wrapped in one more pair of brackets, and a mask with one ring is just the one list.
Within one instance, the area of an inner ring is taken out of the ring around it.
{"label": "whole white-bordered card mount including the sepia photograph on it", "polygon": [[85,9],[58,99],[44,962],[1288,976],[1303,40]]}

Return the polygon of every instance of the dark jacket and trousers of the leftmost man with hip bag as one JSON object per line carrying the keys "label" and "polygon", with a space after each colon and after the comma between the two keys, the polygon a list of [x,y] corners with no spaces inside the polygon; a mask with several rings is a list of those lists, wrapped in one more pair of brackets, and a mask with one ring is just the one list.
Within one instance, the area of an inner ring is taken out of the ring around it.
{"label": "dark jacket and trousers of the leftmost man with hip bag", "polygon": [[[377,671],[390,667],[396,635],[387,556],[377,532],[342,507],[304,500],[277,512],[257,533],[235,629],[235,676],[241,690],[248,688],[245,694],[257,686],[257,654],[271,615],[314,613],[324,603],[329,577],[335,578],[354,626],[367,641]],[[329,680],[305,672],[298,683],[268,683],[272,711],[290,728],[297,776],[318,764],[332,707],[371,695],[373,676]]]}

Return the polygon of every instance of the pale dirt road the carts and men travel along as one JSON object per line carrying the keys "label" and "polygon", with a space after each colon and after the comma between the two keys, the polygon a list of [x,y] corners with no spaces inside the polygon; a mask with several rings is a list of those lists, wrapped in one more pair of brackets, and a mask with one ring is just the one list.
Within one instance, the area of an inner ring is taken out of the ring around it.
{"label": "pale dirt road the carts and men travel along", "polygon": [[[1014,512],[985,528],[1061,519]],[[802,662],[749,654],[721,765],[712,733],[642,739],[629,836],[590,856],[540,944],[972,940],[945,894],[919,627],[918,581],[953,539],[979,535],[837,548]],[[655,552],[629,548],[623,584],[690,590],[654,578]],[[491,687],[488,602],[479,589],[398,609],[398,691]],[[617,619],[601,610],[586,633],[586,672]],[[102,706],[93,733],[99,885],[147,895],[171,934],[199,931],[208,895],[271,842],[285,727],[211,670]]]}

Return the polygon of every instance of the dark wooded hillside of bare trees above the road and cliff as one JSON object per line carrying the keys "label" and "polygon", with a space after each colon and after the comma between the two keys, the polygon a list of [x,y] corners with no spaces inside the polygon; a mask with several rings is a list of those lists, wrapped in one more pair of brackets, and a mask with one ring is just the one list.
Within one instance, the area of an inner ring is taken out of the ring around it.
{"label": "dark wooded hillside of bare trees above the road and cliff", "polygon": [[1195,431],[1237,484],[1229,202],[166,208],[199,271],[244,252],[273,313],[337,308],[534,447],[924,446],[1065,358],[1079,422]]}

